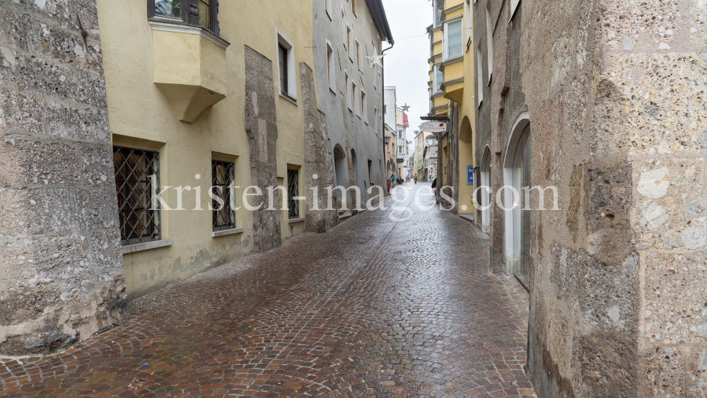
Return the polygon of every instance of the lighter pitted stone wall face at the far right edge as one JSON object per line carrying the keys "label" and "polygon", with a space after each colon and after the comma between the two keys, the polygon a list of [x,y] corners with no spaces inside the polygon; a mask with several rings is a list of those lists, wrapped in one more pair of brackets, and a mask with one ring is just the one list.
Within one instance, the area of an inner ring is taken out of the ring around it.
{"label": "lighter pitted stone wall face at the far right edge", "polygon": [[705,397],[707,2],[598,3],[592,150],[631,170],[638,396]]}

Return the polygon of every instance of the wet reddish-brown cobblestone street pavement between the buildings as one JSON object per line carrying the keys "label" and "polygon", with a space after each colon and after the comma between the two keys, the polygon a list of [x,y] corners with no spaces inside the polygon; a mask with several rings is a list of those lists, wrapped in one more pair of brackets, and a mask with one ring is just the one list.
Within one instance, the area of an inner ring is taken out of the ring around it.
{"label": "wet reddish-brown cobblestone street pavement between the buildings", "polygon": [[486,236],[398,206],[407,221],[366,211],[136,300],[74,349],[1,360],[0,396],[533,396],[527,294],[487,273]]}

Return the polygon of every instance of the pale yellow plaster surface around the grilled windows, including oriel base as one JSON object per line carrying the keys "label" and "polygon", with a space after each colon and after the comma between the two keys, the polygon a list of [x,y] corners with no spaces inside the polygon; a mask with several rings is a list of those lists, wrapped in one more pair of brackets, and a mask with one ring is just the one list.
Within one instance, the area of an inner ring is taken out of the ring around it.
{"label": "pale yellow plaster surface around the grilled windows, including oriel base", "polygon": [[[161,239],[170,245],[124,254],[127,293],[136,298],[253,250],[252,213],[243,207],[236,211],[233,233],[212,236],[207,192],[212,159],[235,163],[235,185],[251,185],[244,127],[246,46],[272,63],[279,182],[286,185],[287,170],[303,167],[299,64],[314,69],[312,2],[221,1],[220,37],[201,28],[151,23],[145,0],[98,0],[98,17],[113,144],[158,151],[162,187],[203,187],[183,192],[185,211],[161,212]],[[292,43],[297,88],[292,98],[279,94],[278,34]],[[242,193],[236,189],[235,197]],[[197,194],[203,211],[190,210]],[[175,189],[162,197],[177,207]],[[283,240],[304,229],[303,220],[292,222],[285,212]]]}

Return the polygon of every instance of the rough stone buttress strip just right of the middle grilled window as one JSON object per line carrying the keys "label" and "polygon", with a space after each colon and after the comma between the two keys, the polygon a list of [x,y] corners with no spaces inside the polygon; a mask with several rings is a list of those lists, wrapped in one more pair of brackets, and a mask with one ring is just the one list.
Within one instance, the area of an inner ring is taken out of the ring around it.
{"label": "rough stone buttress strip just right of the middle grilled window", "polygon": [[[262,195],[250,197],[253,214],[253,247],[266,252],[282,245],[280,233],[281,203],[267,210],[267,187],[276,187],[277,168],[275,141],[275,83],[272,63],[267,57],[245,46],[245,132],[250,143],[250,180]],[[251,191],[250,193],[255,193]]]}

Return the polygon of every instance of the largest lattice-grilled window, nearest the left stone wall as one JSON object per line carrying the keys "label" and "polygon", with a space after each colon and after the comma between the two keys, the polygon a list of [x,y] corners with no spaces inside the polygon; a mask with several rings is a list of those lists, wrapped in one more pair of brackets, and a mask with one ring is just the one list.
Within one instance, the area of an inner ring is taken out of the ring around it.
{"label": "largest lattice-grilled window, nearest the left stone wall", "polygon": [[160,204],[153,200],[160,187],[160,154],[114,146],[113,165],[122,245],[160,240]]}

